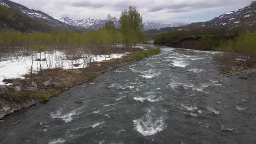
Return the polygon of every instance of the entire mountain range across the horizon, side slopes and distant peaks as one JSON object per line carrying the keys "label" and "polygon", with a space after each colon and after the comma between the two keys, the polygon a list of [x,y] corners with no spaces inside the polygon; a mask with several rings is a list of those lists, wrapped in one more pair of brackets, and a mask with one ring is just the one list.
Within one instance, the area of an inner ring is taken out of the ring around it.
{"label": "entire mountain range across the horizon, side slopes and distant peaks", "polygon": [[[118,27],[118,19],[113,19],[115,26]],[[61,17],[58,19],[48,14],[25,7],[19,3],[10,0],[0,0],[0,29],[12,29],[17,32],[33,32],[51,30],[74,30],[87,31],[88,29],[98,29],[103,27],[105,20],[95,20],[87,18],[84,20],[75,20],[69,17]],[[222,14],[212,20],[200,23],[184,23],[162,24],[153,22],[144,22],[144,28],[150,33],[160,33],[177,29],[190,29],[194,27],[233,27],[246,23],[249,25],[256,24],[256,2],[239,10]],[[152,30],[153,29],[153,30]],[[147,32],[148,32],[147,31]],[[147,33],[145,32],[145,33]]]}

